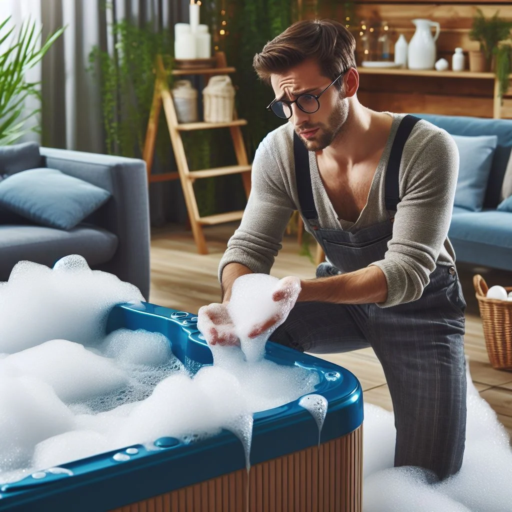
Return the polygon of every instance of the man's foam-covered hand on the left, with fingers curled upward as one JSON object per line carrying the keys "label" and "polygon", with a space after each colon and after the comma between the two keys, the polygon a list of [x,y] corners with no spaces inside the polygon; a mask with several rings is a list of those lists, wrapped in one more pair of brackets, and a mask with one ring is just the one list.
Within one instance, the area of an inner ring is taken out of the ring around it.
{"label": "man's foam-covered hand on the left, with fingers curled upward", "polygon": [[210,304],[199,309],[197,328],[208,345],[240,345],[225,304]]}

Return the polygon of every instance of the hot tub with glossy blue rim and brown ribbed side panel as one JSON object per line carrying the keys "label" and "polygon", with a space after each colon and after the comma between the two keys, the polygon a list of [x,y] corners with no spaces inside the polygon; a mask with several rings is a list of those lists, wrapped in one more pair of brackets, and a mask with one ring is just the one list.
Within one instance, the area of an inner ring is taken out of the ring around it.
{"label": "hot tub with glossy blue rim and brown ribbed side panel", "polygon": [[[107,331],[120,328],[163,333],[191,373],[212,364],[190,313],[147,303],[120,305],[112,309]],[[320,438],[317,422],[295,400],[253,415],[249,475],[243,445],[227,430],[195,443],[163,437],[155,440],[157,450],[126,446],[3,484],[0,510],[361,510],[360,383],[342,367],[272,342],[265,358],[317,373],[314,393],[328,401]]]}

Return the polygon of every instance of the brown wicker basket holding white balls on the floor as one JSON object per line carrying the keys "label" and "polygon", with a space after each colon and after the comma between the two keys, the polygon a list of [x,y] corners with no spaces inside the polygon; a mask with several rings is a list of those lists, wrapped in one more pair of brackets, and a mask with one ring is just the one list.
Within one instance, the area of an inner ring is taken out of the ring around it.
{"label": "brown wicker basket holding white balls on the floor", "polygon": [[[487,283],[479,274],[474,276],[473,285],[490,364],[496,370],[512,370],[512,301],[487,298]],[[508,293],[512,287],[505,290]]]}

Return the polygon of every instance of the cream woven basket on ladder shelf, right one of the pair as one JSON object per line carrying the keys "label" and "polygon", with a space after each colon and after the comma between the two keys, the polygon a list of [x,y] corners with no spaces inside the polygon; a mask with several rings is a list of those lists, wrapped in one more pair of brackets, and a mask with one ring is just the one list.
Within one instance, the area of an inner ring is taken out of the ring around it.
{"label": "cream woven basket on ladder shelf, right one of the pair", "polygon": [[225,123],[233,120],[234,87],[227,75],[212,76],[203,89],[204,120]]}

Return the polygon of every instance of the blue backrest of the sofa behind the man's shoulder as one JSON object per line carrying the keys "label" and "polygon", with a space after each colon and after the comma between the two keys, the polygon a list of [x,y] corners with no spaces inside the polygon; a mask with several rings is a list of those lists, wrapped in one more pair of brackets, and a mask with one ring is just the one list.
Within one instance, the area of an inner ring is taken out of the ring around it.
{"label": "blue backrest of the sofa behind the man's shoulder", "polygon": [[451,135],[497,135],[498,145],[490,167],[489,181],[483,207],[496,208],[501,201],[501,186],[512,150],[512,120],[484,119],[467,116],[443,116],[436,114],[414,114],[439,126]]}

